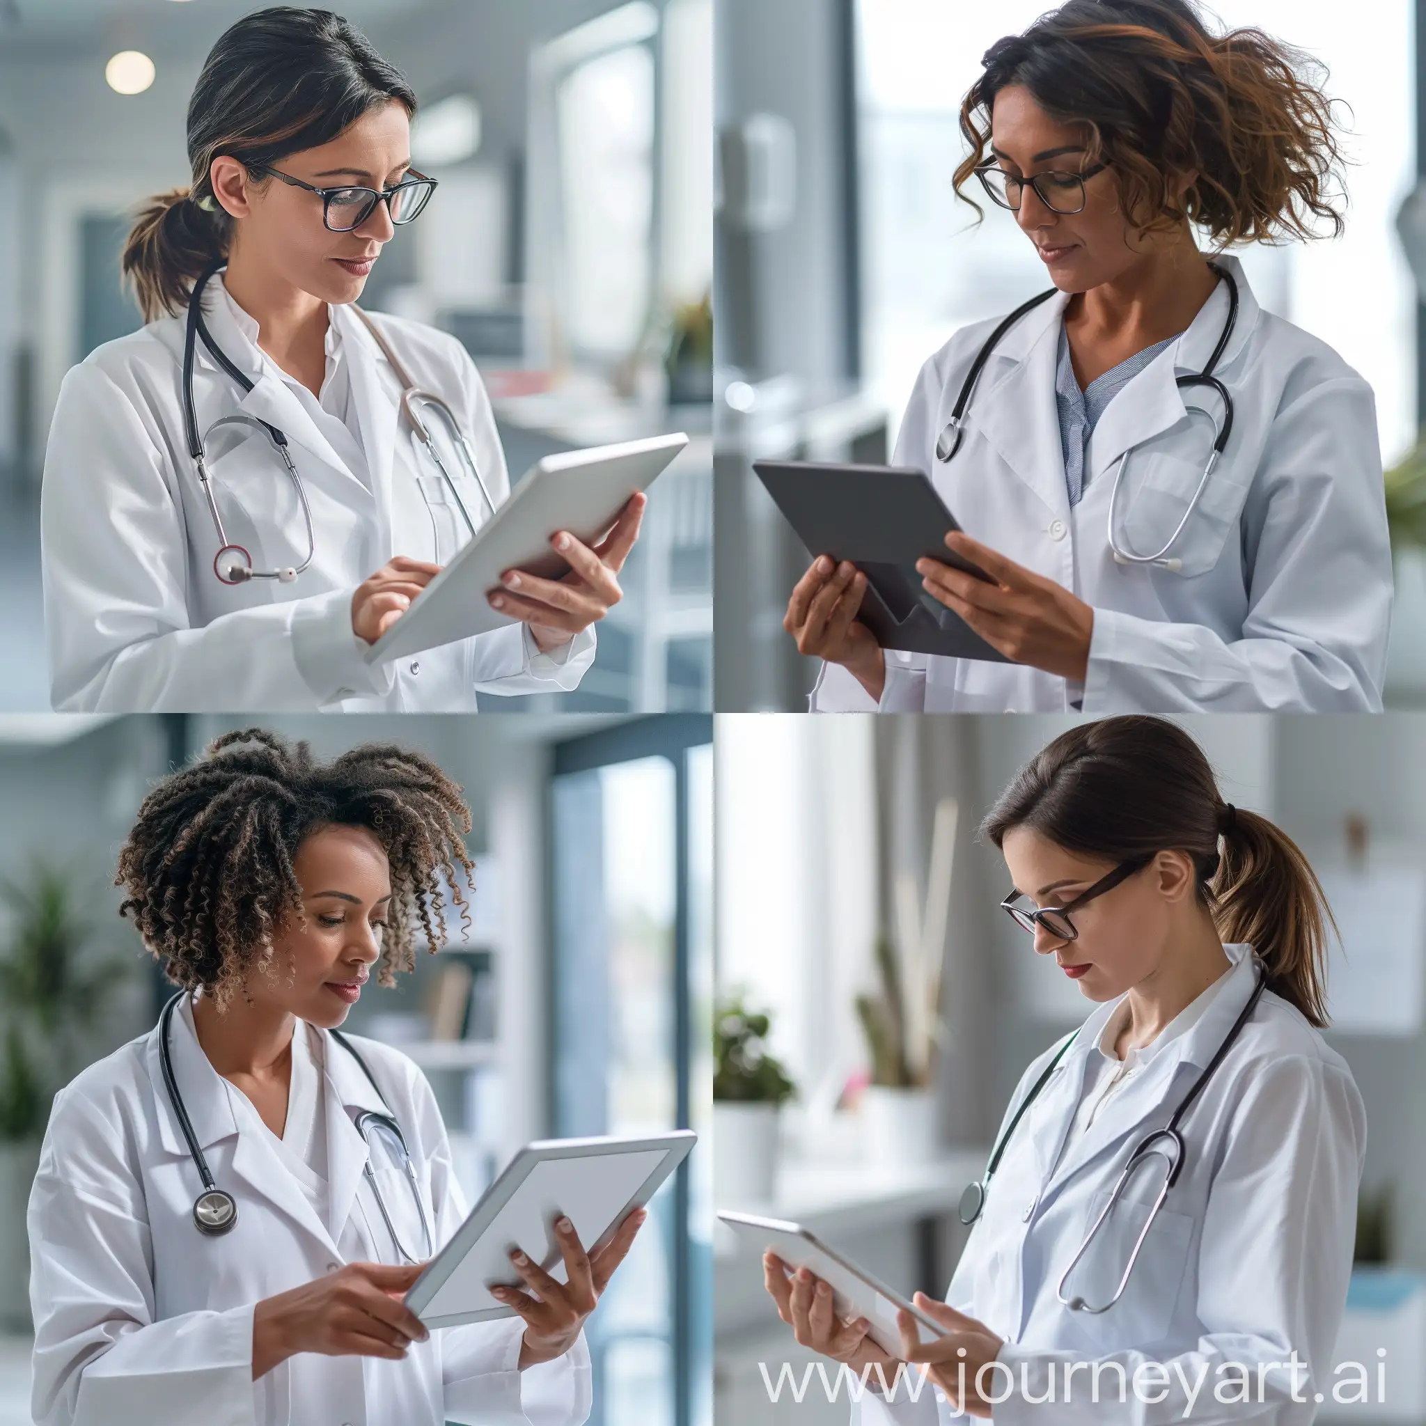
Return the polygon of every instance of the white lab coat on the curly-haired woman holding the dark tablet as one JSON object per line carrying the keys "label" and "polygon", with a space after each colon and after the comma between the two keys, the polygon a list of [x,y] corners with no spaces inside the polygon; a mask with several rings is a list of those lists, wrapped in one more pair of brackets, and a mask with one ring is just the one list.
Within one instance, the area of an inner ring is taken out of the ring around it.
{"label": "white lab coat on the curly-haired woman holding the dark tablet", "polygon": [[[1171,558],[1118,565],[1107,538],[1119,456],[1121,549],[1152,553],[1174,532],[1212,445],[1218,398],[1179,391],[1224,329],[1219,282],[1184,335],[1114,396],[1070,506],[1055,406],[1068,294],[1022,317],[981,372],[955,458],[935,442],[995,321],[957,332],[921,368],[894,463],[930,473],[965,532],[1094,606],[1084,683],[1017,665],[888,653],[881,712],[1378,712],[1392,607],[1392,553],[1372,388],[1325,342],[1263,312],[1236,258],[1238,324],[1219,359],[1233,426]],[[814,712],[877,704],[823,667]]]}

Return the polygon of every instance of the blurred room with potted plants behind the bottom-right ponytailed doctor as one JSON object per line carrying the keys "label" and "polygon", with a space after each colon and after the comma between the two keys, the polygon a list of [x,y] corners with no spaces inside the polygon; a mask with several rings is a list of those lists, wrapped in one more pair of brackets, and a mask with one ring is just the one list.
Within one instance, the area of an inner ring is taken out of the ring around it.
{"label": "blurred room with potted plants behind the bottom-right ponytailed doctor", "polygon": [[[1422,1426],[1426,717],[1181,722],[1224,796],[1299,843],[1340,927],[1326,1037],[1362,1091],[1368,1148],[1336,1350],[1339,1362],[1369,1363],[1386,1348],[1387,1378],[1385,1409],[1329,1402],[1318,1419]],[[904,1295],[944,1295],[964,1245],[960,1194],[983,1174],[1020,1075],[1092,1011],[1000,910],[1004,861],[974,840],[1015,770],[1068,726],[1044,716],[719,716],[719,1208],[796,1219]],[[927,1025],[941,1010],[944,1038],[923,1087],[898,1082],[887,1054],[886,1010],[897,1000],[913,1065],[925,1061]],[[739,1074],[737,1061],[752,1058],[749,1030],[764,1031],[753,1048],[777,1061],[794,1098],[766,1068],[756,1087]],[[776,1382],[781,1362],[800,1376],[809,1355],[763,1292],[757,1253],[720,1224],[714,1303],[719,1420],[846,1422],[846,1400],[829,1406],[816,1380],[801,1405],[789,1392],[769,1403],[757,1363]]]}

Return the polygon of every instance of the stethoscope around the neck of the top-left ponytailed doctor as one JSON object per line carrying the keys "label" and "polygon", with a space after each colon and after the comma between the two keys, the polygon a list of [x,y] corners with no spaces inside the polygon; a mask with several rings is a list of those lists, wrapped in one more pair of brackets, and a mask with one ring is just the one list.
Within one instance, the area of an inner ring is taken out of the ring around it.
{"label": "stethoscope around the neck of the top-left ponytailed doctor", "polygon": [[[212,572],[224,585],[242,585],[250,579],[277,579],[284,585],[289,585],[298,575],[312,563],[317,555],[317,538],[312,532],[312,508],[307,503],[307,486],[302,483],[302,476],[298,473],[297,462],[292,459],[292,452],[288,448],[287,432],[279,426],[274,426],[270,421],[262,421],[260,416],[250,416],[245,412],[240,412],[231,416],[220,416],[212,422],[211,426],[202,435],[198,434],[198,411],[193,399],[193,361],[195,351],[195,339],[201,339],[202,345],[208,348],[208,354],[212,359],[242,388],[244,394],[252,391],[252,379],[241,371],[234,362],[227,356],[221,347],[214,341],[212,334],[208,331],[208,324],[202,318],[202,289],[208,285],[208,279],[224,267],[224,262],[217,262],[204,272],[197,282],[193,285],[193,292],[188,297],[188,329],[184,335],[183,348],[183,418],[184,418],[184,432],[188,438],[188,455],[193,459],[194,469],[198,472],[198,483],[202,486],[204,498],[208,502],[208,515],[212,518],[212,528],[218,533],[218,553],[212,558]],[[442,401],[435,392],[424,391],[412,379],[411,374],[402,365],[401,359],[391,348],[391,342],[376,331],[376,324],[359,308],[352,304],[352,311],[361,318],[366,331],[371,332],[376,345],[381,348],[382,356],[391,364],[391,369],[396,375],[396,381],[401,382],[401,411],[406,421],[411,422],[412,431],[416,434],[416,439],[425,446],[426,453],[435,462],[436,469],[441,472],[441,478],[445,481],[446,488],[451,491],[455,499],[456,508],[461,511],[461,518],[465,520],[466,529],[475,535],[475,520],[471,519],[471,512],[465,508],[465,501],[461,498],[461,491],[456,486],[455,478],[446,468],[445,461],[436,448],[435,439],[431,434],[431,426],[426,424],[426,412],[435,412],[441,421],[445,424],[446,431],[451,435],[451,442],[459,452],[461,461],[465,463],[466,473],[475,481],[485,498],[485,505],[495,513],[495,502],[491,499],[491,492],[485,486],[485,479],[481,476],[481,471],[475,462],[475,453],[471,449],[471,442],[465,438],[465,432],[456,424],[455,412]],[[254,569],[252,556],[241,546],[234,545],[222,528],[222,516],[218,513],[218,502],[212,493],[212,481],[208,475],[208,462],[205,443],[218,426],[248,426],[255,431],[261,431],[264,436],[271,442],[272,449],[277,452],[284,468],[287,469],[288,479],[292,482],[297,491],[297,498],[302,505],[302,520],[307,525],[307,558],[301,565],[287,565],[282,569]]]}

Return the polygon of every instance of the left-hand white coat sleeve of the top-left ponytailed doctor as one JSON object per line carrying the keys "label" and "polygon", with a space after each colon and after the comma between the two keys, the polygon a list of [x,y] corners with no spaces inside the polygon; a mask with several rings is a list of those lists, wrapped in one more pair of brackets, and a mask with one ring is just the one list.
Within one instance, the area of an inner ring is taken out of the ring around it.
{"label": "left-hand white coat sleeve of the top-left ponytailed doctor", "polygon": [[354,589],[188,620],[188,548],[171,461],[96,362],[64,378],[40,496],[50,700],[63,712],[315,712],[381,694]]}

